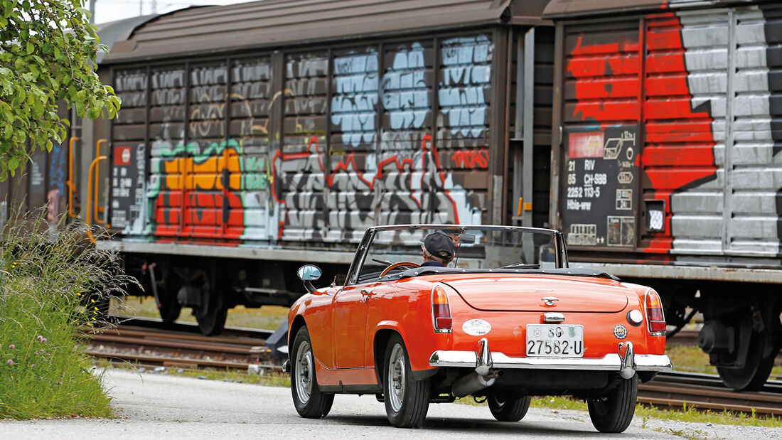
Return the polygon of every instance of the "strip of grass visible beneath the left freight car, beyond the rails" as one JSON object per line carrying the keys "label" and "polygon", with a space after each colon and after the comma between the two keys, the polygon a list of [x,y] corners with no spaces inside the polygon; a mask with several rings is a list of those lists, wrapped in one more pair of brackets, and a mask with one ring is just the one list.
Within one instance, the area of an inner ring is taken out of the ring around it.
{"label": "strip of grass visible beneath the left freight car, beyond the rails", "polygon": [[[126,317],[160,318],[160,313],[155,306],[155,299],[152,297],[125,296],[120,299],[112,299],[110,312]],[[276,330],[287,319],[287,307],[263,306],[260,309],[248,309],[245,306],[236,306],[228,310],[225,325]],[[195,322],[192,309],[183,308],[178,321]]]}

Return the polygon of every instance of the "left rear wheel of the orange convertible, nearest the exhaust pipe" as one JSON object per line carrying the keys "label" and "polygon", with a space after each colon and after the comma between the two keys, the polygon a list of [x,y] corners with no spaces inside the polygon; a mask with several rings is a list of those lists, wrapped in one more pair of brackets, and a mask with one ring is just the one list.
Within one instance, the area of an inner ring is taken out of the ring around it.
{"label": "left rear wheel of the orange convertible, nearest the exhaust pipe", "polygon": [[[399,334],[389,338],[383,356],[383,400],[395,427],[421,427],[429,411],[429,379],[416,381],[407,349]],[[398,388],[401,386],[401,388]]]}

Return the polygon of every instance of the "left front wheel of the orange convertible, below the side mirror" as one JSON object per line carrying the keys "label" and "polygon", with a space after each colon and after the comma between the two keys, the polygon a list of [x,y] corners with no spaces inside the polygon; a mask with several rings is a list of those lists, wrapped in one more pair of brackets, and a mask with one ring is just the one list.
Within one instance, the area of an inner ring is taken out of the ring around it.
{"label": "left front wheel of the orange convertible, below the side mirror", "polygon": [[334,395],[321,392],[321,388],[317,386],[312,340],[307,327],[301,327],[296,332],[290,356],[291,395],[293,406],[296,406],[296,413],[307,419],[326,417],[328,411],[332,409]]}

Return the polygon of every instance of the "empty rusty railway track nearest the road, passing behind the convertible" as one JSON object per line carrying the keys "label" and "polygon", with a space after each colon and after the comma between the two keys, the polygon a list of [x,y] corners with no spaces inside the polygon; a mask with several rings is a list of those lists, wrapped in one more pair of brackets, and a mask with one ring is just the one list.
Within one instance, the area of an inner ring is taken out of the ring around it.
{"label": "empty rusty railway track nearest the road, passing behind the convertible", "polygon": [[[91,356],[143,367],[247,370],[251,365],[281,371],[264,345],[271,331],[228,327],[222,336],[203,336],[195,326],[160,329],[153,320],[131,320],[103,333],[84,333]],[[761,392],[734,392],[713,374],[661,373],[638,386],[638,402],[660,408],[683,406],[714,412],[755,413],[782,417],[782,381],[768,381]]]}

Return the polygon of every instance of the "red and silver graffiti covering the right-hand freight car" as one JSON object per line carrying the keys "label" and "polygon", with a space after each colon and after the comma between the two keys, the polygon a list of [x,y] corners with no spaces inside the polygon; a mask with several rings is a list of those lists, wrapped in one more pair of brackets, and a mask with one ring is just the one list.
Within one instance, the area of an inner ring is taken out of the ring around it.
{"label": "red and silver graffiti covering the right-hand freight car", "polygon": [[[779,252],[780,180],[769,164],[782,145],[782,56],[771,9],[737,8],[733,19],[722,9],[655,13],[645,17],[643,38],[637,27],[569,34],[566,129],[589,131],[584,124],[597,123],[605,131],[641,121],[636,188],[644,193],[636,202],[644,252]],[[609,178],[622,177],[629,179]],[[766,202],[761,194],[769,195]],[[619,197],[604,196],[606,204]],[[568,206],[586,201],[563,206],[566,232],[575,228],[576,241],[585,229]]]}

